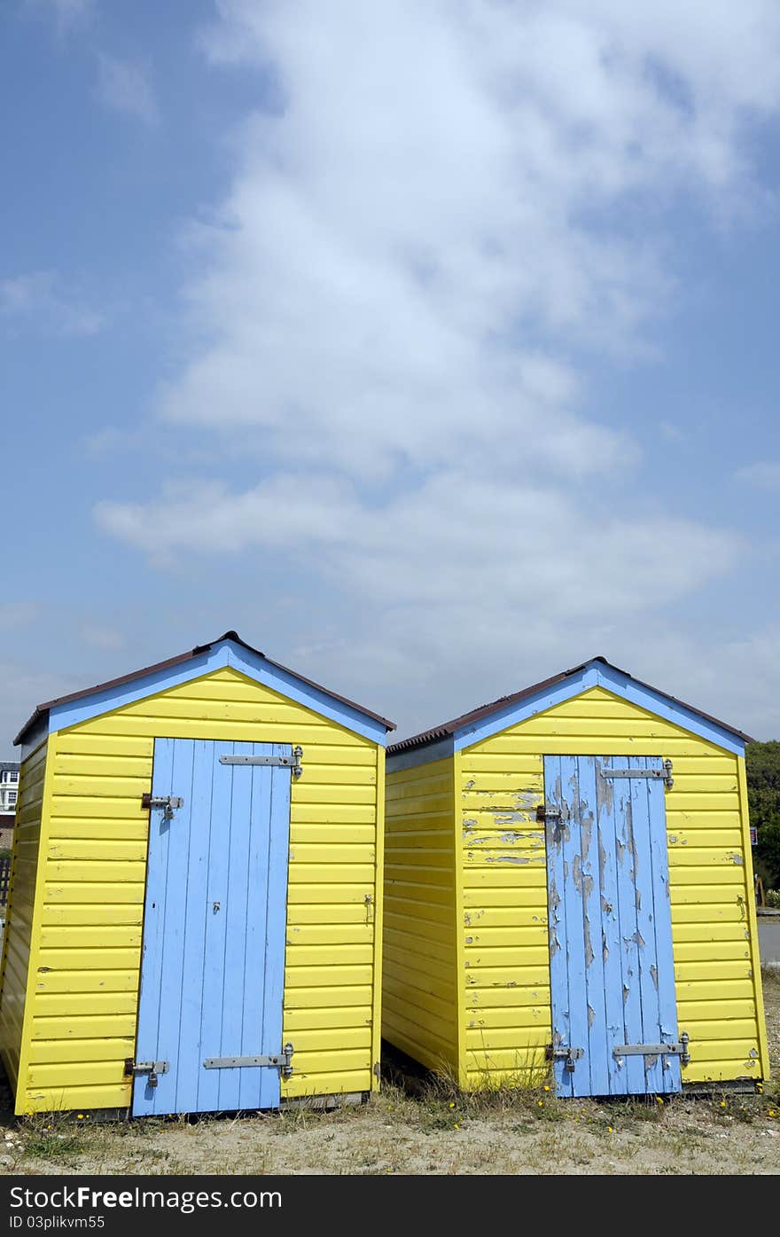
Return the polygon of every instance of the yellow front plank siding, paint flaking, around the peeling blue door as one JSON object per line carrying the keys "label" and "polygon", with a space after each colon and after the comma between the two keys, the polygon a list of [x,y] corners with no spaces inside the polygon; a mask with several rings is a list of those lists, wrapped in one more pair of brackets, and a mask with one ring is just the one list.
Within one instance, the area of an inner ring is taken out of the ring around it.
{"label": "yellow front plank siding, paint flaking, around the peeling blue door", "polygon": [[592,688],[460,753],[470,1085],[533,1076],[551,1038],[544,756],[661,756],[687,1082],[769,1076],[742,758]]}

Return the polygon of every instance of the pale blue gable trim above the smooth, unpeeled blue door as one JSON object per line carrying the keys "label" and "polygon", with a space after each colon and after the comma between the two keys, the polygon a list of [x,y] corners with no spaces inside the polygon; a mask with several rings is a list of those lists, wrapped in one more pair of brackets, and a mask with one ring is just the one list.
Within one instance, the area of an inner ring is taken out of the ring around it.
{"label": "pale blue gable trim above the smooth, unpeeled blue door", "polygon": [[382,747],[387,743],[387,731],[382,722],[375,721],[372,717],[366,716],[357,709],[350,708],[350,705],[341,700],[336,700],[326,691],[304,683],[290,670],[283,670],[260,654],[252,653],[240,644],[235,644],[231,640],[211,644],[203,653],[199,653],[198,657],[182,662],[180,666],[156,670],[152,674],[143,675],[141,679],[106,688],[103,691],[95,691],[82,696],[79,700],[72,700],[69,704],[54,705],[49,710],[48,732],[53,734],[56,730],[66,730],[68,726],[75,726],[78,722],[89,721],[90,717],[99,717],[104,713],[121,709],[124,705],[143,700],[157,691],[166,691],[169,688],[179,687],[182,683],[189,683],[192,679],[211,674],[214,670],[226,666],[239,670],[250,679],[255,679],[256,683],[278,691],[281,695],[287,696],[288,700],[294,700],[297,704],[312,709],[313,713],[319,714],[321,717],[328,717],[346,730],[362,735],[363,738],[370,738]]}

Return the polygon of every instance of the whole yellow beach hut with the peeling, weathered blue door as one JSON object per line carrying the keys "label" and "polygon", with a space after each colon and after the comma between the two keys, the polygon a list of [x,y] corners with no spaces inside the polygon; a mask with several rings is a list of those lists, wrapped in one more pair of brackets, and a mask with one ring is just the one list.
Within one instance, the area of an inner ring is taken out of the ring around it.
{"label": "whole yellow beach hut with the peeling, weathered blue door", "polygon": [[768,1077],[748,741],[597,657],[389,747],[387,1040],[462,1087]]}

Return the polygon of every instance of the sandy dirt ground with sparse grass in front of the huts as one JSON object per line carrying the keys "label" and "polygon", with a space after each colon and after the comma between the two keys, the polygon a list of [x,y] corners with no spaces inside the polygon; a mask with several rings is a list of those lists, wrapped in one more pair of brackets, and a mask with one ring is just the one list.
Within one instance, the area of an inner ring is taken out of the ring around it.
{"label": "sandy dirt ground with sparse grass in front of the huts", "polygon": [[197,1122],[35,1117],[0,1129],[0,1173],[775,1174],[780,1173],[780,970],[764,977],[773,1080],[661,1103],[462,1096],[388,1084],[357,1108]]}

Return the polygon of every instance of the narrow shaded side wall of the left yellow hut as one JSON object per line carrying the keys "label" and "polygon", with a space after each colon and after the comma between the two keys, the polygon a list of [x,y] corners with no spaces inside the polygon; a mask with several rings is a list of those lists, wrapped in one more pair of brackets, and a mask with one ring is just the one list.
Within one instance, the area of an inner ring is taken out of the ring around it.
{"label": "narrow shaded side wall of the left yellow hut", "polygon": [[0,1054],[11,1086],[23,1082],[25,1011],[30,952],[36,912],[38,845],[46,783],[47,743],[43,742],[20,767],[11,883],[6,907],[0,971]]}

